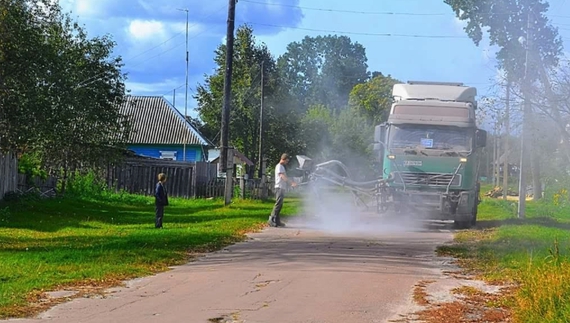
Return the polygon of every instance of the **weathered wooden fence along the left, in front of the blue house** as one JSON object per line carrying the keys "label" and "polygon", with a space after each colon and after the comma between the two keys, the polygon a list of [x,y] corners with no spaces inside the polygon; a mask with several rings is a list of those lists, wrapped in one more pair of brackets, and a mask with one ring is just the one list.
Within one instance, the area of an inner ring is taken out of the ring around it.
{"label": "weathered wooden fence along the left, in front of the blue house", "polygon": [[[130,158],[119,165],[109,165],[103,174],[109,188],[132,194],[154,195],[157,175],[165,173],[169,196],[182,198],[217,198],[224,196],[225,178],[217,177],[217,164]],[[271,183],[234,178],[234,198],[265,198],[272,194]],[[42,196],[55,196],[57,179],[27,178],[18,174],[13,154],[0,154],[0,199],[6,192],[39,190]],[[269,189],[267,189],[269,188]]]}

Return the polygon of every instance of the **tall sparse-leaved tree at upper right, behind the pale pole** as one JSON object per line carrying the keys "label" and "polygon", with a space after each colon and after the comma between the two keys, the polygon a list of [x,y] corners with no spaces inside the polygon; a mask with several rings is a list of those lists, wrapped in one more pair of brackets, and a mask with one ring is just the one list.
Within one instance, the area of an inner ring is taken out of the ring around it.
{"label": "tall sparse-leaved tree at upper right, behind the pale pole", "polygon": [[[543,0],[444,0],[456,16],[467,22],[465,31],[479,45],[483,28],[488,29],[491,45],[497,45],[499,67],[507,78],[519,84],[528,95],[529,86],[544,80],[545,67],[556,66],[562,51],[558,31],[548,21],[549,4]],[[521,41],[524,40],[524,41]],[[528,52],[527,52],[528,51]],[[528,112],[528,111],[527,111]],[[562,125],[560,125],[562,126]],[[536,136],[532,136],[536,137]],[[533,142],[536,146],[538,142]],[[542,195],[538,152],[533,154],[535,197]]]}

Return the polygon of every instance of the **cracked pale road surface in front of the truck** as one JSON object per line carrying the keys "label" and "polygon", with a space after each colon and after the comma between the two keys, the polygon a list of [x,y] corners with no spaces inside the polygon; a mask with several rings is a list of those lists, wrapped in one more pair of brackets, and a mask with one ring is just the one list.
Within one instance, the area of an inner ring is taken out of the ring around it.
{"label": "cracked pale road surface in front of the truck", "polygon": [[445,228],[319,232],[289,223],[104,298],[16,322],[388,322],[414,310],[418,281],[442,277]]}

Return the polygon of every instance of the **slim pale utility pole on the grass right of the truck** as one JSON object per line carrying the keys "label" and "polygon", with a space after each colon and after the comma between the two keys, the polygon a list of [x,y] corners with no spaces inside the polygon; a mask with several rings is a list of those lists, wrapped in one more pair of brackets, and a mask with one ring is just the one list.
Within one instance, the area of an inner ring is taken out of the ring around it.
{"label": "slim pale utility pole on the grass right of the truck", "polygon": [[531,37],[530,37],[530,9],[527,14],[527,27],[526,27],[526,48],[525,48],[525,66],[524,66],[524,106],[523,106],[523,121],[522,121],[522,131],[521,131],[521,160],[519,167],[519,203],[517,214],[519,218],[525,217],[526,210],[526,181],[524,172],[526,171],[526,155],[527,147],[525,137],[528,132],[527,118],[530,112],[530,82],[528,77],[528,63],[529,63],[529,51],[531,48]]}

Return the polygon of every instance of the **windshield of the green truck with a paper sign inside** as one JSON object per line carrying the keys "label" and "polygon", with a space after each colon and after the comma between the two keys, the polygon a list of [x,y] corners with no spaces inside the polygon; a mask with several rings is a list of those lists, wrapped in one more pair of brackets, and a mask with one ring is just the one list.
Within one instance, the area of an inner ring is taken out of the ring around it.
{"label": "windshield of the green truck with a paper sign inside", "polygon": [[471,151],[469,129],[431,125],[393,125],[390,129],[390,149],[429,149],[456,152]]}

